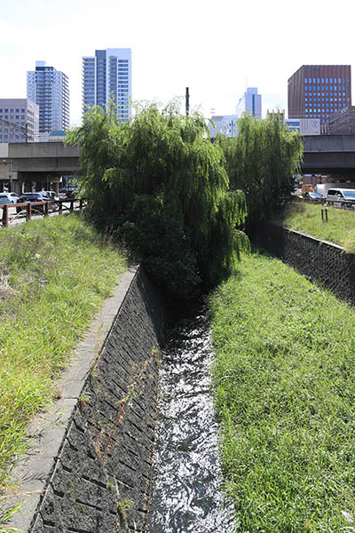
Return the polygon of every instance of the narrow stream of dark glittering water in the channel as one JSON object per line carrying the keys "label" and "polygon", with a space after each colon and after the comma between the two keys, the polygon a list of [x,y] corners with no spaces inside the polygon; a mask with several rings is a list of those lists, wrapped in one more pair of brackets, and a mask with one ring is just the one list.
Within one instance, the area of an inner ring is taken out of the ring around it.
{"label": "narrow stream of dark glittering water in the channel", "polygon": [[146,533],[236,530],[220,487],[210,362],[205,315],[179,322],[162,353],[154,494]]}

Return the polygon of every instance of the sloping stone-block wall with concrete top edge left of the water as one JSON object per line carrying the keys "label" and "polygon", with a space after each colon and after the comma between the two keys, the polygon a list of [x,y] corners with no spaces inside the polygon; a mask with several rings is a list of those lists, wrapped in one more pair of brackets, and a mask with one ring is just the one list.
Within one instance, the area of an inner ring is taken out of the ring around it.
{"label": "sloping stone-block wall with concrete top edge left of the water", "polygon": [[161,328],[162,301],[139,270],[101,351],[92,335],[84,342],[91,350],[85,378],[71,369],[62,380],[65,429],[41,430],[17,469],[20,494],[30,497],[25,519],[16,513],[9,525],[31,533],[144,531]]}

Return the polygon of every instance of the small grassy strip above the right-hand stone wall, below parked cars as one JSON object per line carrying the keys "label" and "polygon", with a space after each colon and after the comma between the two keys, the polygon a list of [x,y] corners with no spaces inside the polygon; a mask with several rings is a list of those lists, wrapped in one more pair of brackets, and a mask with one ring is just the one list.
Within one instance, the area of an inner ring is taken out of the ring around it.
{"label": "small grassy strip above the right-hand stone wall, below parked cars", "polygon": [[322,209],[326,208],[313,203],[294,202],[281,221],[285,227],[339,244],[355,253],[355,211],[327,207],[328,221],[323,222]]}

